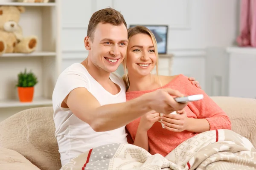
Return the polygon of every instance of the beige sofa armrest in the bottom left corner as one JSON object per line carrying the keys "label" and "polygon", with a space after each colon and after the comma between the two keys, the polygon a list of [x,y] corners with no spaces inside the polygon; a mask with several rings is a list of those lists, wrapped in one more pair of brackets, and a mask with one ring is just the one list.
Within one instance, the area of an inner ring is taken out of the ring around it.
{"label": "beige sofa armrest in the bottom left corner", "polygon": [[20,153],[0,147],[1,170],[40,170]]}

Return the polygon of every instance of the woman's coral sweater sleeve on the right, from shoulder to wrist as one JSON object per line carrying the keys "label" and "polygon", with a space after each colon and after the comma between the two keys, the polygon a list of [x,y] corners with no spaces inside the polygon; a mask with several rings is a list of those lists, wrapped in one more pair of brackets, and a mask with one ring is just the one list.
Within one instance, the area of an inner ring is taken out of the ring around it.
{"label": "woman's coral sweater sleeve on the right, from shoulder to wrist", "polygon": [[207,119],[210,130],[230,129],[231,121],[227,114],[200,88],[189,81],[188,77],[183,76],[181,86],[184,85],[184,95],[203,94],[204,99],[189,102],[188,107],[196,114],[199,119]]}

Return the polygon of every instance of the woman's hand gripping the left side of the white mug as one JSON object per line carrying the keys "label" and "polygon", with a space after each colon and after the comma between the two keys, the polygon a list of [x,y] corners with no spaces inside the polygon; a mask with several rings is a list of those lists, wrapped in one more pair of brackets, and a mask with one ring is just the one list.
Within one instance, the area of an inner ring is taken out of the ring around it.
{"label": "woman's hand gripping the left side of the white mug", "polygon": [[160,114],[156,113],[156,111],[150,111],[145,113],[140,118],[140,124],[138,127],[138,131],[145,132],[148,131],[155,122],[160,121]]}

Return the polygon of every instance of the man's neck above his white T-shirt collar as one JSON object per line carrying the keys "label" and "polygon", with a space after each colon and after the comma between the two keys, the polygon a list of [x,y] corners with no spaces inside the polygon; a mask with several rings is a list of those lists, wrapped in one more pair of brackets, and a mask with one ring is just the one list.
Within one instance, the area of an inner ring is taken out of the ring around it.
{"label": "man's neck above his white T-shirt collar", "polygon": [[84,61],[81,62],[81,64],[84,65],[89,74],[97,82],[109,81],[110,73],[94,65],[93,62],[91,62],[90,58],[87,57]]}

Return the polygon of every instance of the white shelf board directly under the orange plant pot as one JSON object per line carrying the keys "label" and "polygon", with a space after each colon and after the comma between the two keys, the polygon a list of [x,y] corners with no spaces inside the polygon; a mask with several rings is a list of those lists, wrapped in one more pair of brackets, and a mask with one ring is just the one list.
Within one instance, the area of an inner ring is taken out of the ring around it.
{"label": "white shelf board directly under the orange plant pot", "polygon": [[52,105],[51,99],[38,98],[32,102],[20,102],[18,100],[3,100],[0,101],[0,108],[12,108],[12,107],[25,107],[25,106],[42,106]]}

